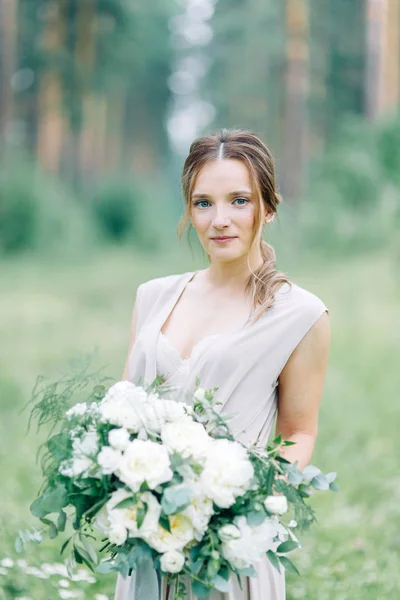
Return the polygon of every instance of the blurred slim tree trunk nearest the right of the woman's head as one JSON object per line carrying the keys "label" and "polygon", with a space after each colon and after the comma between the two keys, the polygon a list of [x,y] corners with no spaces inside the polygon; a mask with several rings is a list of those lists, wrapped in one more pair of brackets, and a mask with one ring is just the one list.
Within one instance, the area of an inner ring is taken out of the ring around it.
{"label": "blurred slim tree trunk nearest the right of the woman's head", "polygon": [[286,73],[282,193],[299,196],[308,152],[308,0],[286,1]]}

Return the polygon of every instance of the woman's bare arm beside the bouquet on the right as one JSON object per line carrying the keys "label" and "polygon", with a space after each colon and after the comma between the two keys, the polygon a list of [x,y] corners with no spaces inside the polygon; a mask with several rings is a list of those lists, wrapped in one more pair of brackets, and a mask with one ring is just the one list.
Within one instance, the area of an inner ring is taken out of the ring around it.
{"label": "woman's bare arm beside the bouquet on the right", "polygon": [[292,352],[279,376],[276,436],[296,442],[282,449],[304,469],[311,460],[318,432],[318,411],[328,365],[330,325],[327,312],[314,323]]}

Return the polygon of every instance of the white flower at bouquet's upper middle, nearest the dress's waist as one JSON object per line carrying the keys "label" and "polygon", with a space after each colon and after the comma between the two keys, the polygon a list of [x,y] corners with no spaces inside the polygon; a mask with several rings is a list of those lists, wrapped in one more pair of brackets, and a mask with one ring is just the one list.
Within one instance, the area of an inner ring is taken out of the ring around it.
{"label": "white flower at bouquet's upper middle, nearest the dress's waist", "polygon": [[190,417],[183,417],[173,423],[164,425],[161,431],[163,443],[172,452],[179,452],[183,458],[192,456],[204,459],[211,438],[201,423],[196,423]]}

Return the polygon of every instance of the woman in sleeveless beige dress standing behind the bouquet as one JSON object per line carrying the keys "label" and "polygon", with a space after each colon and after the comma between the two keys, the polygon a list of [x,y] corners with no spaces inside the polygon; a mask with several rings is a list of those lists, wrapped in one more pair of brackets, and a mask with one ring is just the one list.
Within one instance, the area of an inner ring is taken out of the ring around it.
{"label": "woman in sleeveless beige dress standing behind the bouquet", "polygon": [[[275,435],[296,442],[285,456],[303,469],[311,459],[329,353],[325,304],[275,269],[262,240],[279,196],[268,148],[252,133],[222,130],[196,140],[183,176],[180,235],[191,221],[208,255],[207,269],[139,286],[124,378],[193,390],[218,386],[222,410],[248,444]],[[134,598],[132,578],[118,577],[115,600]],[[265,560],[241,590],[211,600],[282,600],[284,573]],[[190,586],[188,586],[190,587]],[[163,581],[162,597],[169,594]],[[129,591],[130,590],[130,591]],[[190,596],[193,598],[193,596]]]}

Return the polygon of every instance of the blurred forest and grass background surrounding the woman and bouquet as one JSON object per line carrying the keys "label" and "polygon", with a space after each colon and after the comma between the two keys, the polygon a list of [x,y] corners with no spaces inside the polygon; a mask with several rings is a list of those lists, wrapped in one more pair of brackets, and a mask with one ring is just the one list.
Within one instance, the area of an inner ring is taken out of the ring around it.
{"label": "blurred forest and grass background surrounding the woman and bouquet", "polygon": [[330,309],[313,463],[341,491],[313,497],[288,600],[400,597],[399,94],[398,0],[0,0],[0,598],[113,597],[58,539],[15,551],[44,439],[22,408],[94,348],[119,378],[137,286],[207,266],[179,178],[220,127],[270,146],[267,239]]}

